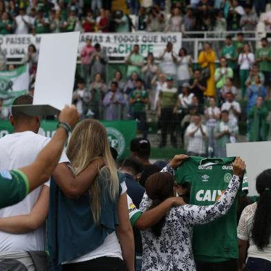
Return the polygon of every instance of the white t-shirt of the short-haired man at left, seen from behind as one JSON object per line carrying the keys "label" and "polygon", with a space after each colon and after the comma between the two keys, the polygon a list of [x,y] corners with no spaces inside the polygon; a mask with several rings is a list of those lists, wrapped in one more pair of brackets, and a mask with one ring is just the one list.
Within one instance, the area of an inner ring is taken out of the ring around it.
{"label": "white t-shirt of the short-haired man at left, seen from behind", "polygon": [[[50,138],[32,131],[4,136],[0,139],[0,170],[18,169],[30,165],[49,141]],[[62,153],[59,162],[68,162],[66,154]],[[49,182],[46,185],[49,186]],[[29,214],[39,198],[41,189],[42,185],[34,189],[20,203],[0,209],[0,218]],[[26,234],[0,232],[0,252],[44,250],[45,236],[45,223],[37,230]]]}

